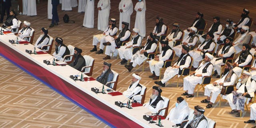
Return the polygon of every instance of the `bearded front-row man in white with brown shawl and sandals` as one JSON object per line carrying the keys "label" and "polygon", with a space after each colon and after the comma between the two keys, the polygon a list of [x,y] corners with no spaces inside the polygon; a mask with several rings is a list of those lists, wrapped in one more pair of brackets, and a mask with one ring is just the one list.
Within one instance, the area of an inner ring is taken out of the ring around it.
{"label": "bearded front-row man in white with brown shawl and sandals", "polygon": [[[235,84],[237,76],[233,72],[232,68],[233,66],[230,63],[227,63],[222,77],[212,84],[208,84],[204,87],[204,96],[206,96],[206,99],[202,100],[201,103],[209,103],[206,108],[212,107],[212,104],[215,103],[218,95],[220,94],[220,90],[224,88],[224,86]],[[234,87],[227,87],[226,94],[230,94],[233,90]],[[212,98],[210,98],[210,96],[212,96]]]}

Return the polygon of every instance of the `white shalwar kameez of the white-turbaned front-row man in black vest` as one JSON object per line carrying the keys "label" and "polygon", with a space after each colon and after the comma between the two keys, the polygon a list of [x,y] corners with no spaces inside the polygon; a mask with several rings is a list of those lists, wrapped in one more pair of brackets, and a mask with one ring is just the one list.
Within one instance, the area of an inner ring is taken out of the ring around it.
{"label": "white shalwar kameez of the white-turbaned front-row man in black vest", "polygon": [[194,94],[194,89],[196,87],[196,84],[198,83],[201,84],[204,76],[210,76],[212,74],[212,69],[213,69],[212,64],[208,66],[206,73],[202,73],[203,69],[208,63],[210,62],[207,62],[205,64],[201,63],[199,66],[200,68],[196,69],[195,71],[195,75],[202,74],[202,76],[198,77],[198,76],[192,75],[192,76],[186,76],[183,79],[183,90],[184,91],[188,90],[188,94]]}

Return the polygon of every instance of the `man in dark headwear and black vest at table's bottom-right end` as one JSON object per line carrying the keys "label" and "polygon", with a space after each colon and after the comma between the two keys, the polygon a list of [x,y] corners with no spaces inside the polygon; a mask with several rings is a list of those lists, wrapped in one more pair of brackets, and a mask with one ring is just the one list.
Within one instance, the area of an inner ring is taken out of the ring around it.
{"label": "man in dark headwear and black vest at table's bottom-right end", "polygon": [[207,119],[204,116],[204,108],[200,106],[195,106],[194,108],[194,119],[190,121],[186,128],[206,128]]}

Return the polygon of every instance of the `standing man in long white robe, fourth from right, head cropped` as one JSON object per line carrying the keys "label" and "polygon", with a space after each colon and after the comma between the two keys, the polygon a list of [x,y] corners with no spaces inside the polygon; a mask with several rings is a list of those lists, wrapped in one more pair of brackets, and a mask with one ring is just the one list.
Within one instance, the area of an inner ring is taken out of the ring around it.
{"label": "standing man in long white robe, fourth from right, head cropped", "polygon": [[83,26],[87,28],[93,28],[94,26],[94,0],[87,0]]}

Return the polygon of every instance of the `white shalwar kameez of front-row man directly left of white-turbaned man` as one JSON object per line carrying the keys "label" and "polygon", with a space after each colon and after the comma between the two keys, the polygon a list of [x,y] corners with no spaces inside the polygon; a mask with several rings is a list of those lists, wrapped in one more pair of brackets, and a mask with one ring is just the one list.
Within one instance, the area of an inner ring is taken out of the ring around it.
{"label": "white shalwar kameez of front-row man directly left of white-turbaned man", "polygon": [[[180,66],[180,68],[172,68],[172,66],[169,66],[168,68],[166,68],[166,70],[164,71],[164,78],[161,80],[161,82],[164,84],[166,82],[168,82],[168,80],[170,80],[171,78],[173,78],[175,75],[177,75],[179,73],[179,69],[183,70],[183,68],[188,68],[190,66],[190,62],[191,62],[191,57],[188,56],[187,58],[184,58],[187,54],[185,54],[181,60],[186,59],[186,62],[184,65],[180,65],[180,62],[176,62],[173,66]],[[178,63],[178,64],[177,64]],[[178,75],[178,77],[180,77],[180,75]]]}

